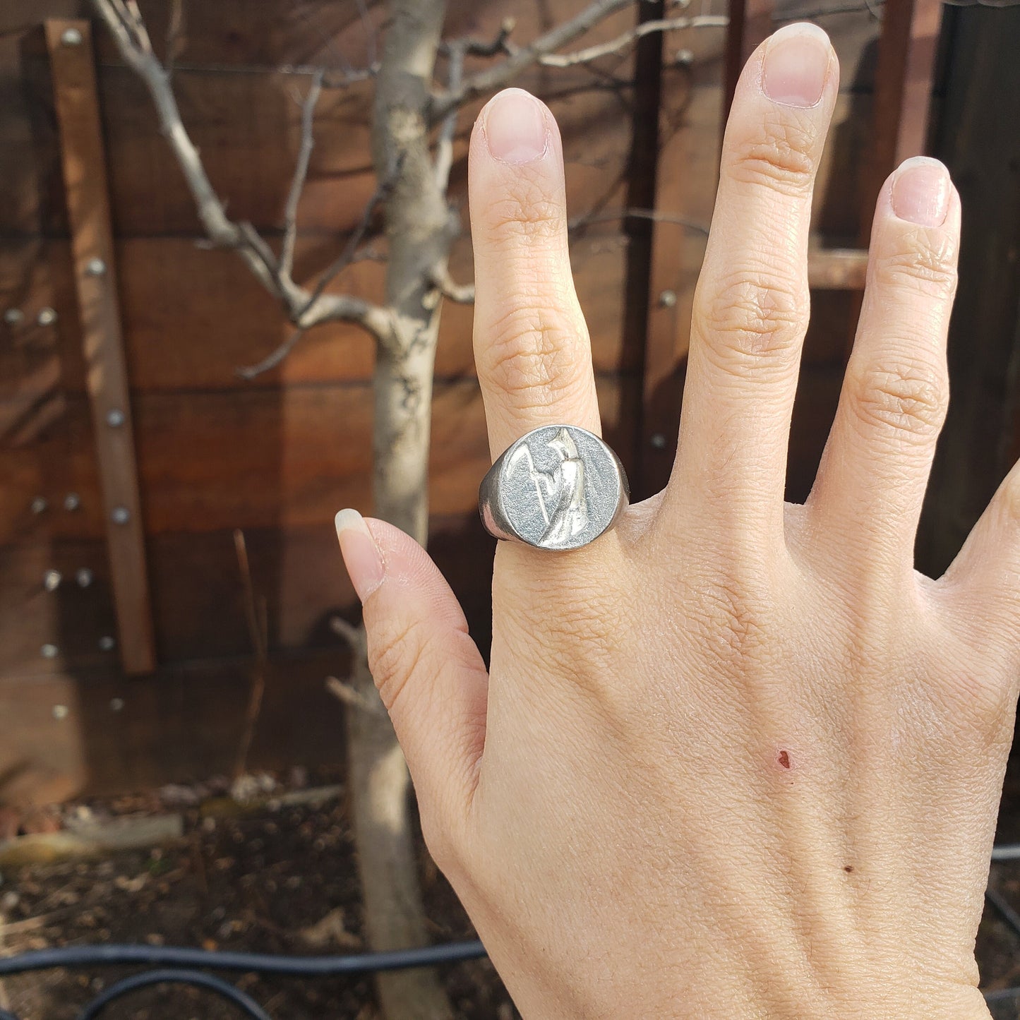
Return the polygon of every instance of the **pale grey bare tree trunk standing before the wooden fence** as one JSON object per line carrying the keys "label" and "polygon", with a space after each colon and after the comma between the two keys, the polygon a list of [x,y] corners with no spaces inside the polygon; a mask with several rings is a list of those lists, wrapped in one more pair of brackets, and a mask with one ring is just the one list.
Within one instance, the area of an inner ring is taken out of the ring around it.
{"label": "pale grey bare tree trunk standing before the wooden fence", "polygon": [[[372,124],[379,180],[392,180],[386,205],[390,262],[387,305],[392,335],[380,342],[374,375],[374,513],[422,545],[428,522],[428,437],[440,296],[450,215],[435,176],[426,120],[443,27],[443,0],[392,0]],[[367,666],[354,681],[379,711],[350,709],[348,768],[358,867],[372,949],[427,940],[418,883],[410,778]],[[452,1020],[434,971],[376,975],[390,1020]]]}

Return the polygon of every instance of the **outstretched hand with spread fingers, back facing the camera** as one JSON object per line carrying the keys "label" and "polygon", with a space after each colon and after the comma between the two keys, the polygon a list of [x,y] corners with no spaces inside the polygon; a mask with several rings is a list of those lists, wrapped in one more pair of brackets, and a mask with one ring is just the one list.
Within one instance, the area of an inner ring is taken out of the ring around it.
{"label": "outstretched hand with spread fingers, back facing the camera", "polygon": [[[428,846],[527,1018],[988,1015],[1020,474],[946,576],[914,571],[960,223],[933,160],[881,191],[817,481],[783,504],[837,75],[807,26],[745,68],[669,486],[576,552],[500,545],[490,675],[424,552],[339,518]],[[478,118],[470,202],[493,456],[599,431],[560,139],[525,93]]]}

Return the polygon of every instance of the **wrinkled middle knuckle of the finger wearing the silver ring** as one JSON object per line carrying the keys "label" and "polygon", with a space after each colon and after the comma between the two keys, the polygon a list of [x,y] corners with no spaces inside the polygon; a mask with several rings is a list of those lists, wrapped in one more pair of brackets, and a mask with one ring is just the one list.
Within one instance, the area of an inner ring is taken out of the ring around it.
{"label": "wrinkled middle knuckle of the finger wearing the silver ring", "polygon": [[548,407],[578,387],[576,333],[558,316],[517,307],[498,319],[487,345],[486,365],[493,384],[519,394],[518,406]]}

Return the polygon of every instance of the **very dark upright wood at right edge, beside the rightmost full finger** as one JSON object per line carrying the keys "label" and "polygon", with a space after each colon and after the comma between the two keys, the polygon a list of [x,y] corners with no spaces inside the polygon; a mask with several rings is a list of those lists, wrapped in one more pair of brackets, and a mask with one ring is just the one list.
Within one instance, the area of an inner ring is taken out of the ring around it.
{"label": "very dark upright wood at right edge, beside the rightmost full finger", "polygon": [[1020,454],[1020,8],[948,11],[935,155],[963,204],[950,324],[952,400],[917,544],[938,576]]}

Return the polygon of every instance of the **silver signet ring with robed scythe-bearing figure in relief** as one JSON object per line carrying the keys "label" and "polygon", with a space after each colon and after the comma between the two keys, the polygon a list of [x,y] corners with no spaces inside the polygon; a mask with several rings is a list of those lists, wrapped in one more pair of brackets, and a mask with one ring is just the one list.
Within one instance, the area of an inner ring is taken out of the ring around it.
{"label": "silver signet ring with robed scythe-bearing figure in relief", "polygon": [[490,534],[537,549],[579,549],[616,523],[630,503],[619,457],[576,425],[522,436],[489,469],[478,512]]}

